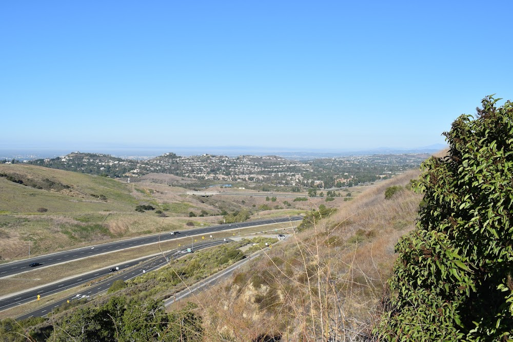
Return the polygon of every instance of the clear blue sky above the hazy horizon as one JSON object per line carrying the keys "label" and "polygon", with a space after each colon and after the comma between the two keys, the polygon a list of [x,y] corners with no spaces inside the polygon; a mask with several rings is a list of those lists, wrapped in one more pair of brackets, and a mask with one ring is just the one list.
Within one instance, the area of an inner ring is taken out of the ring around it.
{"label": "clear blue sky above the hazy horizon", "polygon": [[513,99],[513,2],[4,1],[0,146],[443,143]]}

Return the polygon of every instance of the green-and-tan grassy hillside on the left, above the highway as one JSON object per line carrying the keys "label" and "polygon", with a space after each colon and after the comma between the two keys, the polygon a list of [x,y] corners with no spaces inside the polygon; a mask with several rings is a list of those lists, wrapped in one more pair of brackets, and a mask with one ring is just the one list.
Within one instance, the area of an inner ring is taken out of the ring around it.
{"label": "green-and-tan grassy hillside on the left, above the highway", "polygon": [[[182,230],[191,228],[191,223],[195,227],[218,224],[223,211],[254,209],[244,205],[243,198],[190,196],[187,189],[151,183],[156,178],[128,184],[33,165],[0,165],[0,260],[27,257],[29,248],[31,255],[37,255]],[[154,210],[135,211],[140,205]],[[189,217],[190,212],[197,217]],[[274,210],[272,214],[284,213]]]}

